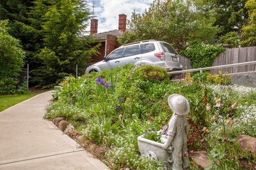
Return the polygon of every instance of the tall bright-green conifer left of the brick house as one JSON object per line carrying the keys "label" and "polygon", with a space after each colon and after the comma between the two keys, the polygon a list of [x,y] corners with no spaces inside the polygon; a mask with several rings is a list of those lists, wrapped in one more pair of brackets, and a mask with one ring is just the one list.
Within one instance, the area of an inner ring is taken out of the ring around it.
{"label": "tall bright-green conifer left of the brick house", "polygon": [[[36,0],[31,22],[42,27],[44,48],[36,55],[43,66],[34,70],[34,81],[40,87],[52,87],[64,76],[74,74],[76,64],[85,69],[90,57],[97,53],[92,39],[82,39],[90,18],[86,3],[79,0],[51,1]],[[36,18],[36,19],[35,19]]]}

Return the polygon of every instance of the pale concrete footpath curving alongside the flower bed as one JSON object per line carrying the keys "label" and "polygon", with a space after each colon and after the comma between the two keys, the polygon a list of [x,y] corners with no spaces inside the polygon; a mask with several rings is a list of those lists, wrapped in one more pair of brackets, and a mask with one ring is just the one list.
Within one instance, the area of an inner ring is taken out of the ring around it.
{"label": "pale concrete footpath curving alongside the flower bed", "polygon": [[51,92],[0,112],[0,169],[108,169],[44,120]]}

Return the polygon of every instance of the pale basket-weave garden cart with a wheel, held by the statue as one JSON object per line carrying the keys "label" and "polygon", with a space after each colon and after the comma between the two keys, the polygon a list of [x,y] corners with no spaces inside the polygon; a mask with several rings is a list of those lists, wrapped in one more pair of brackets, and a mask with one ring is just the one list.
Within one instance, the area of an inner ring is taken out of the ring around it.
{"label": "pale basket-weave garden cart with a wheel, held by the statue", "polygon": [[141,155],[145,155],[150,159],[159,160],[161,162],[169,162],[169,164],[172,162],[172,155],[167,152],[167,150],[163,149],[163,143],[151,141],[141,135],[138,137],[138,146]]}

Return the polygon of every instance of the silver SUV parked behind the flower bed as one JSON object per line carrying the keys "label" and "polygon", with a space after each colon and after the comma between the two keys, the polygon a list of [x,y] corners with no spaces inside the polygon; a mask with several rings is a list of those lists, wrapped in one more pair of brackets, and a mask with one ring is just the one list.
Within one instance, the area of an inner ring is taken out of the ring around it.
{"label": "silver SUV parked behind the flower bed", "polygon": [[145,40],[122,45],[113,50],[103,60],[86,68],[85,73],[100,72],[124,64],[152,64],[161,66],[166,71],[180,71],[179,54],[172,45],[164,41]]}

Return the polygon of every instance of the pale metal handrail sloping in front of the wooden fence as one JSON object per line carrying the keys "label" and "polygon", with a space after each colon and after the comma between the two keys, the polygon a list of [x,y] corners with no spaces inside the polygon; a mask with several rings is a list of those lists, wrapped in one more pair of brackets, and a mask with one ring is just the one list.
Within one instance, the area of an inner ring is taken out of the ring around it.
{"label": "pale metal handrail sloping in front of the wooden fence", "polygon": [[234,66],[246,66],[246,65],[250,65],[250,64],[256,64],[256,60],[248,61],[248,62],[240,62],[240,63],[236,63],[236,64],[221,65],[221,66],[204,67],[204,68],[198,68],[198,69],[188,69],[188,70],[182,70],[182,71],[172,71],[169,73],[177,74],[177,73],[187,73],[187,72],[194,72],[194,71],[200,71],[200,73],[203,73],[204,70],[209,70],[209,69],[219,69],[219,68],[234,67]]}

